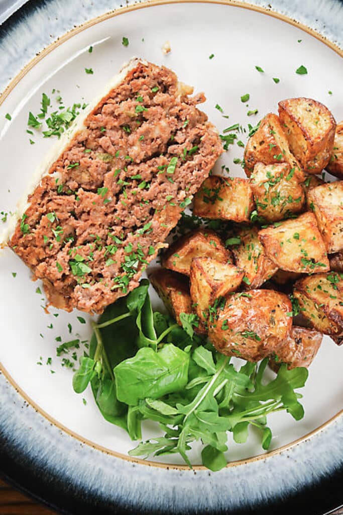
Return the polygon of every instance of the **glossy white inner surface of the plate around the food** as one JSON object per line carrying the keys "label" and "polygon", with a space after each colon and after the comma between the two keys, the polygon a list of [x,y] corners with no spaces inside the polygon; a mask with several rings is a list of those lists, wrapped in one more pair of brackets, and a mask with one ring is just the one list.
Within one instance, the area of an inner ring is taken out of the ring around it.
{"label": "glossy white inner surface of the plate around the food", "polygon": [[[123,36],[129,38],[128,47],[121,44]],[[161,51],[166,40],[172,48],[167,56]],[[90,45],[92,54],[88,53]],[[209,59],[211,54],[213,59]],[[195,92],[204,91],[207,102],[201,108],[220,130],[237,122],[244,127],[255,125],[267,112],[277,112],[279,100],[293,96],[315,98],[332,110],[337,121],[343,118],[341,57],[310,33],[254,10],[219,4],[169,4],[133,10],[88,26],[53,46],[4,99],[0,106],[0,210],[14,211],[34,169],[55,143],[52,138],[26,133],[28,112],[39,112],[42,93],[52,99],[56,96],[51,94],[52,89],[60,90],[65,106],[87,102],[132,56],[164,64],[180,80],[192,84]],[[259,73],[256,65],[265,73]],[[308,75],[295,73],[300,65],[306,66]],[[92,67],[94,74],[86,74],[85,67]],[[273,77],[280,82],[276,84]],[[245,93],[250,94],[248,108],[240,100]],[[215,109],[216,104],[229,115],[228,119]],[[256,108],[257,115],[247,116],[248,109]],[[11,114],[11,122],[5,119],[6,113]],[[34,145],[30,145],[30,137]],[[242,140],[246,141],[244,134]],[[215,170],[224,164],[232,176],[243,176],[240,166],[233,164],[242,153],[237,145],[231,146]],[[15,278],[12,272],[16,272]],[[133,447],[128,435],[102,419],[90,391],[84,396],[73,392],[72,372],[62,368],[61,358],[56,357],[56,338],[86,340],[89,324],[80,324],[78,313],[58,313],[52,308],[46,314],[42,296],[35,293],[40,285],[30,281],[28,269],[8,249],[1,255],[0,283],[5,374],[59,425],[96,445],[127,453]],[[68,323],[73,326],[71,334]],[[51,366],[45,365],[48,357],[52,358]],[[300,422],[286,414],[270,417],[272,449],[303,437],[338,413],[342,408],[342,366],[342,350],[324,338],[303,391],[305,417]],[[51,369],[56,373],[52,374]],[[156,434],[155,426],[143,424],[144,438]],[[254,435],[245,445],[230,443],[231,460],[258,454],[261,448]],[[161,460],[182,462],[173,456]],[[193,462],[200,462],[197,450]]]}

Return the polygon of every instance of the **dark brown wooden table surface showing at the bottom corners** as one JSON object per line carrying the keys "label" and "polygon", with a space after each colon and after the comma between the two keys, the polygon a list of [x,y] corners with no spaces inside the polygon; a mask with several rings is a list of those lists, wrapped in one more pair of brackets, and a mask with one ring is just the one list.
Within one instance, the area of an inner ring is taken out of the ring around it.
{"label": "dark brown wooden table surface showing at the bottom corners", "polygon": [[[56,515],[37,501],[33,501],[0,478],[0,514],[1,515]],[[343,508],[331,515],[343,515]]]}

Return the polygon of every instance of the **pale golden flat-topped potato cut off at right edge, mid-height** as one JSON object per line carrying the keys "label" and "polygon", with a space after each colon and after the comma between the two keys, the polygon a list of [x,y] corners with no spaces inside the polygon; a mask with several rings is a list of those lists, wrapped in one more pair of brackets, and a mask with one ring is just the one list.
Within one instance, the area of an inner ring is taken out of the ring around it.
{"label": "pale golden flat-topped potato cut off at right edge, mid-height", "polygon": [[343,249],[343,181],[327,182],[308,193],[308,205],[329,253]]}

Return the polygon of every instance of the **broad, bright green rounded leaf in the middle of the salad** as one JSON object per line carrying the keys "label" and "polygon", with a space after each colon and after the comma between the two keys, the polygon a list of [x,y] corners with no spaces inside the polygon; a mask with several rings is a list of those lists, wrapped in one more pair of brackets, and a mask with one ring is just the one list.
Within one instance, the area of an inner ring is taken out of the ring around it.
{"label": "broad, bright green rounded leaf in the middle of the salad", "polygon": [[182,390],[188,382],[188,365],[189,354],[173,344],[166,344],[159,352],[149,347],[139,349],[114,369],[118,399],[136,405],[146,397],[158,399]]}

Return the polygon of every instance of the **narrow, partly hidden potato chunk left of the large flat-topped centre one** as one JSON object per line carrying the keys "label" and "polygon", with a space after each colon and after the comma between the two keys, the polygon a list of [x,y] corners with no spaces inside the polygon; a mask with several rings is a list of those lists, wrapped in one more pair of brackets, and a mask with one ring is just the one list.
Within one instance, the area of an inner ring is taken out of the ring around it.
{"label": "narrow, partly hidden potato chunk left of the large flat-topped centre one", "polygon": [[245,288],[258,288],[278,269],[274,261],[267,258],[258,233],[257,227],[243,227],[236,234],[236,238],[233,238],[233,241],[240,242],[239,245],[233,245],[231,251],[236,265],[245,272],[243,279]]}

